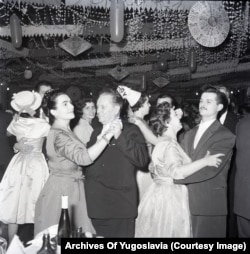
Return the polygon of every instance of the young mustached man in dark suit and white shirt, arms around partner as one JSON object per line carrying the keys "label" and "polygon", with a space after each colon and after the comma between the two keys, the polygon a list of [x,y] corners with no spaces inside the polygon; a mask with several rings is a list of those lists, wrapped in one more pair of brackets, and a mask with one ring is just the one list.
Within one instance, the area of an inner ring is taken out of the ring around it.
{"label": "young mustached man in dark suit and white shirt, arms around partner", "polygon": [[224,154],[218,168],[205,167],[176,181],[188,187],[194,237],[226,237],[227,175],[235,136],[220,124],[217,115],[227,103],[225,94],[208,87],[199,103],[201,122],[185,134],[182,142],[192,161],[207,152]]}

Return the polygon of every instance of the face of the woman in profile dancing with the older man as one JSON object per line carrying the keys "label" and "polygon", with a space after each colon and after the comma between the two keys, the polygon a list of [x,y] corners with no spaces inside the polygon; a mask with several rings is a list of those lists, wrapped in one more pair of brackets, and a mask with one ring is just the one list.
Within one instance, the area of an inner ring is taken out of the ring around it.
{"label": "face of the woman in profile dancing with the older man", "polygon": [[74,106],[66,94],[61,94],[56,98],[56,109],[51,109],[50,112],[55,119],[71,120],[75,117]]}

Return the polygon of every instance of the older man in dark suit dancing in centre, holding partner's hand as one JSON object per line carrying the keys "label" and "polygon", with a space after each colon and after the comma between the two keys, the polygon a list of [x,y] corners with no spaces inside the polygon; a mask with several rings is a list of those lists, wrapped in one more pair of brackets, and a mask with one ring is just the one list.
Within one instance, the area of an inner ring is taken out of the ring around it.
{"label": "older man in dark suit dancing in centre, holding partner's hand", "polygon": [[[122,98],[115,91],[100,93],[97,116],[103,126],[93,131],[88,146],[119,118],[121,107]],[[111,140],[85,174],[88,215],[97,234],[104,237],[134,237],[138,204],[136,169],[147,166],[149,160],[139,128],[128,122],[122,125],[120,135]]]}

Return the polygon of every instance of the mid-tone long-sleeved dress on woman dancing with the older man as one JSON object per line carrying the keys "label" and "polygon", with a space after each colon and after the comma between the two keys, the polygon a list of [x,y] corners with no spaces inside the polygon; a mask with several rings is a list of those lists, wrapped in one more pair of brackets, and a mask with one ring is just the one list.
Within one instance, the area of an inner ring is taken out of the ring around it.
{"label": "mid-tone long-sleeved dress on woman dancing with the older man", "polygon": [[87,148],[73,132],[51,128],[46,150],[50,175],[36,204],[35,234],[58,224],[62,195],[69,197],[72,229],[82,227],[83,232],[95,233],[87,214],[84,179],[79,166],[92,163]]}

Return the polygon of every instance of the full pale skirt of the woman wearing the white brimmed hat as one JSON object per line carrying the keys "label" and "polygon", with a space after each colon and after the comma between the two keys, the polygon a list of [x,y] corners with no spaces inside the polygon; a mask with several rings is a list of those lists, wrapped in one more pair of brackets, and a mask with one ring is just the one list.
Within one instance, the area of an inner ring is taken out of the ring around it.
{"label": "full pale skirt of the woman wearing the white brimmed hat", "polygon": [[43,138],[27,141],[33,151],[15,154],[5,171],[0,183],[0,221],[6,224],[34,223],[35,204],[49,176],[42,143]]}

